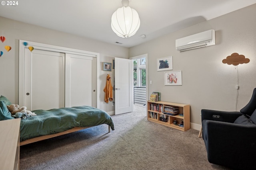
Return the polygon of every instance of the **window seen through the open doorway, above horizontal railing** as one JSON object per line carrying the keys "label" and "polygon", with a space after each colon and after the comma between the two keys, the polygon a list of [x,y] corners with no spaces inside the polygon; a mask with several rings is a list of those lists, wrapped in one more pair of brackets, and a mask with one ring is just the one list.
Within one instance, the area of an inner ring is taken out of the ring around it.
{"label": "window seen through the open doorway, above horizontal railing", "polygon": [[140,58],[133,61],[134,86],[146,86],[146,58]]}

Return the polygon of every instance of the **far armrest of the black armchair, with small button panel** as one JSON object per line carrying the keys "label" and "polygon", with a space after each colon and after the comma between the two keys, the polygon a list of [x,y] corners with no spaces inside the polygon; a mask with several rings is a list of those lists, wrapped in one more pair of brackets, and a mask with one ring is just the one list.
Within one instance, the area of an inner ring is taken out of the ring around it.
{"label": "far armrest of the black armchair, with small button panel", "polygon": [[238,111],[217,111],[217,110],[201,110],[202,121],[203,120],[214,120],[214,121],[223,121],[233,123],[237,117],[242,115]]}

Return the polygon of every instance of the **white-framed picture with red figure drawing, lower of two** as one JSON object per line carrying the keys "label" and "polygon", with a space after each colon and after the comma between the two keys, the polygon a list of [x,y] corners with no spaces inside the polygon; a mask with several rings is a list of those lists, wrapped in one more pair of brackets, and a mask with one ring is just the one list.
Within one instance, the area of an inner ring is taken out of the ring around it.
{"label": "white-framed picture with red figure drawing, lower of two", "polygon": [[164,85],[182,85],[181,71],[164,72]]}

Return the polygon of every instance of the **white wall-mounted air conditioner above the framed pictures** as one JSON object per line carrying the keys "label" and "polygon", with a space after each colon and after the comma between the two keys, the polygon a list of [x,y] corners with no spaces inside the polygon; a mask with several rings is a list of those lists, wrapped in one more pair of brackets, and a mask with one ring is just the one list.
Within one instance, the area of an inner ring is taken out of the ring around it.
{"label": "white wall-mounted air conditioner above the framed pictures", "polygon": [[213,29],[176,39],[176,50],[180,52],[210,45],[215,45],[215,31]]}

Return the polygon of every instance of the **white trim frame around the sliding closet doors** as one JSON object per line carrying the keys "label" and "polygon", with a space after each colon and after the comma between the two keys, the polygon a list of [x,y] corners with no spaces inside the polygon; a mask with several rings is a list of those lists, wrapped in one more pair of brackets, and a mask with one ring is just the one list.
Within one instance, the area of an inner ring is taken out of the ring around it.
{"label": "white trim frame around the sliding closet doors", "polygon": [[[26,44],[26,45],[24,45]],[[19,105],[24,106],[24,97],[25,97],[25,89],[24,89],[24,78],[25,78],[25,49],[28,47],[33,47],[34,49],[47,50],[47,51],[56,51],[60,53],[69,53],[74,55],[84,55],[88,57],[96,57],[97,58],[97,69],[96,69],[96,107],[99,108],[100,104],[100,87],[99,87],[99,69],[100,69],[100,54],[94,53],[90,51],[83,51],[78,49],[71,49],[66,47],[60,47],[55,45],[48,45],[43,43],[36,43],[32,41],[19,40]],[[66,101],[65,101],[66,106]]]}

